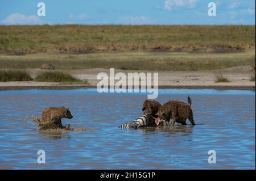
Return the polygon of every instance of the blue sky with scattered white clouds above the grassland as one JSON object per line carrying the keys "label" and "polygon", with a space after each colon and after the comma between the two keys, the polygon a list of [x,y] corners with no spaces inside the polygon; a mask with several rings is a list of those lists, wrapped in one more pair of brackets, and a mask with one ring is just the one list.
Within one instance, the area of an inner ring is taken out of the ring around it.
{"label": "blue sky with scattered white clouds above the grassland", "polygon": [[[46,16],[38,16],[38,2]],[[208,3],[217,15],[208,16]],[[0,24],[255,24],[254,0],[8,0]]]}

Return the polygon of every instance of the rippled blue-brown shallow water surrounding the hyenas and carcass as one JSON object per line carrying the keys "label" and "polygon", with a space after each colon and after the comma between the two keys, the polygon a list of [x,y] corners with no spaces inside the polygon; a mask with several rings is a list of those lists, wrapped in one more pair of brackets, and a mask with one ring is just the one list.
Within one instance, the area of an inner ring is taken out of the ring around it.
{"label": "rippled blue-brown shallow water surrounding the hyenas and carcass", "polygon": [[[96,89],[0,91],[0,169],[255,169],[255,92],[159,90],[158,101],[187,101],[197,125],[122,130],[142,113],[146,94],[99,94]],[[48,106],[69,107],[73,128],[41,133],[36,123]],[[38,164],[38,150],[46,164]],[[208,151],[216,151],[216,164]]]}

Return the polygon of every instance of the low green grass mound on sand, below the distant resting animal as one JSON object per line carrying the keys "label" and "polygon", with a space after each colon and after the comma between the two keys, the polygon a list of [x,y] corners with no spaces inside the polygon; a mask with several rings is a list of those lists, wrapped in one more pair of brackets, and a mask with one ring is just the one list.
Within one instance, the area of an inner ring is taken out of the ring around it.
{"label": "low green grass mound on sand, below the distant resting animal", "polygon": [[80,79],[73,77],[71,74],[60,71],[44,72],[36,76],[34,81],[37,82],[65,82],[65,83],[83,83]]}

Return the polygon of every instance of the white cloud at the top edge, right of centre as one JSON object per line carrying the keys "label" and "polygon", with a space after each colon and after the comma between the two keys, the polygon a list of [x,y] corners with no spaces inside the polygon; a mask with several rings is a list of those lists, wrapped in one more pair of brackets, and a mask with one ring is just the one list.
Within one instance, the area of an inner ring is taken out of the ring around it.
{"label": "white cloud at the top edge, right of centre", "polygon": [[174,7],[185,7],[193,8],[196,5],[197,0],[166,0],[164,2],[164,9],[171,10]]}

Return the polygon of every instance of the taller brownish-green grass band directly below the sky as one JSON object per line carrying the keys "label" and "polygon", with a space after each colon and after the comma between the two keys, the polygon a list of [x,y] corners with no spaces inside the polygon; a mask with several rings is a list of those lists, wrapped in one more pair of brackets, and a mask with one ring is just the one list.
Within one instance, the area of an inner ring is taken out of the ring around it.
{"label": "taller brownish-green grass band directly below the sky", "polygon": [[0,53],[255,49],[255,26],[0,26]]}

